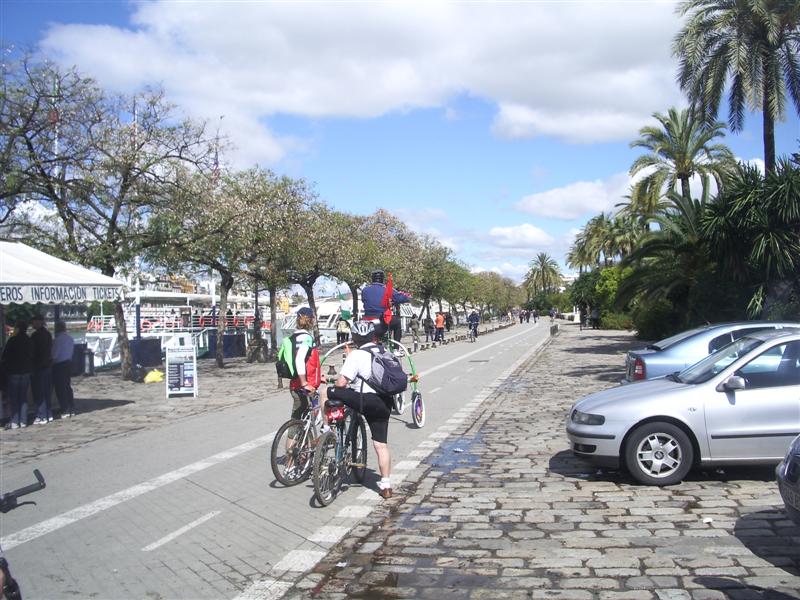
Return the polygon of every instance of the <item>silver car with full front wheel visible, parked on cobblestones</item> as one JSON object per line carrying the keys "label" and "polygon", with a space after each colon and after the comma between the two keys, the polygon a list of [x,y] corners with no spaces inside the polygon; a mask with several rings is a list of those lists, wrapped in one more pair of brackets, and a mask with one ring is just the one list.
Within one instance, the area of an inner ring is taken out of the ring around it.
{"label": "silver car with full front wheel visible, parked on cobblestones", "polygon": [[586,396],[566,425],[576,455],[650,485],[696,465],[778,463],[800,434],[800,331],[751,333],[680,373]]}

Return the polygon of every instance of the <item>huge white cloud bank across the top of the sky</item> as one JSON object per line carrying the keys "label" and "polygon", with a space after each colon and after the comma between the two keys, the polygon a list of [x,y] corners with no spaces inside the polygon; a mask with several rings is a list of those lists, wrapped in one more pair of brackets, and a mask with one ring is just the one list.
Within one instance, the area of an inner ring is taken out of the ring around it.
{"label": "huge white cloud bank across the top of the sky", "polygon": [[493,102],[505,137],[630,139],[678,102],[671,3],[284,3],[135,5],[127,28],[54,25],[44,51],[102,85],[163,83],[196,117],[225,115],[239,164],[292,140],[265,119],[370,118]]}

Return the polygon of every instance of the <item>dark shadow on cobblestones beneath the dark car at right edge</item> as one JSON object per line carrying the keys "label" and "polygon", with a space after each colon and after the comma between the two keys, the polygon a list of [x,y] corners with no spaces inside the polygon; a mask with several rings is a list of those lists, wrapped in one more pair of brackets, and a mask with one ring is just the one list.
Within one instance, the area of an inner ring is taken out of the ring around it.
{"label": "dark shadow on cobblestones beneath the dark car at right edge", "polygon": [[800,526],[782,508],[740,517],[733,534],[750,552],[787,573],[800,576]]}

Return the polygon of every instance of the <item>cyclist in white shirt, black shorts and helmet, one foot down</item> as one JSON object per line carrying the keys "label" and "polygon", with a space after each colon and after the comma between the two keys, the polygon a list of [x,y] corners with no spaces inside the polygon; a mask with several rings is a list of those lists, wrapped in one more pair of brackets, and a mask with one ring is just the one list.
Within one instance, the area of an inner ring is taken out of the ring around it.
{"label": "cyclist in white shirt, black shorts and helmet, one foot down", "polygon": [[387,439],[389,416],[392,412],[392,397],[379,395],[366,381],[372,375],[370,348],[377,347],[377,328],[372,321],[357,321],[350,329],[350,336],[356,347],[353,348],[350,344],[345,346],[347,358],[339,377],[333,386],[322,389],[322,414],[325,414],[325,402],[331,399],[341,400],[351,409],[364,415],[372,432],[375,454],[378,455],[378,470],[381,473],[378,493],[382,498],[391,498],[392,457]]}

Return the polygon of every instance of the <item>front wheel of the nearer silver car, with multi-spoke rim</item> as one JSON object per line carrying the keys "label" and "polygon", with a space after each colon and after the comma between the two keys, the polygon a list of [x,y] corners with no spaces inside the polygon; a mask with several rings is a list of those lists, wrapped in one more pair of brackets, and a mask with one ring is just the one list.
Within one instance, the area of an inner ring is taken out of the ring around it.
{"label": "front wheel of the nearer silver car, with multi-spoke rim", "polygon": [[625,446],[625,465],[645,485],[680,483],[694,461],[694,449],[680,427],[645,423],[633,430]]}

